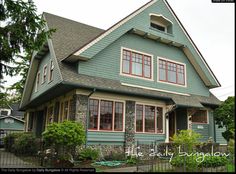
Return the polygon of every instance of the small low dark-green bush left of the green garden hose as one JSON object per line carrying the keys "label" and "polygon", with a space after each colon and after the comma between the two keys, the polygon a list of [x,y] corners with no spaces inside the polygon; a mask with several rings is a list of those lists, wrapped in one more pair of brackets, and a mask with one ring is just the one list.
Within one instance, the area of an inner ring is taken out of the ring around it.
{"label": "small low dark-green bush left of the green garden hose", "polygon": [[79,160],[81,161],[96,161],[99,157],[99,150],[93,148],[85,148],[79,152]]}

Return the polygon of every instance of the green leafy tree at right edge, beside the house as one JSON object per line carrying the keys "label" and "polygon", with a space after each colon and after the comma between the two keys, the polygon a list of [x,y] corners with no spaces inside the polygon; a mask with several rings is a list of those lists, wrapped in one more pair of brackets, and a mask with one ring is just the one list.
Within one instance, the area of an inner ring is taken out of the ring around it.
{"label": "green leafy tree at right edge, beside the house", "polygon": [[234,139],[234,121],[235,121],[234,97],[228,97],[215,111],[214,117],[219,128],[226,128],[222,136],[229,141]]}

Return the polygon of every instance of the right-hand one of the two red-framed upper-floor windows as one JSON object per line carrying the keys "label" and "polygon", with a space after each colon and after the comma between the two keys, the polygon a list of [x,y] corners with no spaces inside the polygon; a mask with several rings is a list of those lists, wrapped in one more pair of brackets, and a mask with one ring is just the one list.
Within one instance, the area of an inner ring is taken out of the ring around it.
{"label": "right-hand one of the two red-framed upper-floor windows", "polygon": [[159,81],[185,85],[185,66],[183,64],[159,59]]}

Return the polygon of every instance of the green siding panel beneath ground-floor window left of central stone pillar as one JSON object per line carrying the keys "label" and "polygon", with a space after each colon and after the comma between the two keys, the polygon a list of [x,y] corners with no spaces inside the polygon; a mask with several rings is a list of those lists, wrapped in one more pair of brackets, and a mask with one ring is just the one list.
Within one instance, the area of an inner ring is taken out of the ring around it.
{"label": "green siding panel beneath ground-floor window left of central stone pillar", "polygon": [[124,145],[124,132],[88,132],[88,144]]}

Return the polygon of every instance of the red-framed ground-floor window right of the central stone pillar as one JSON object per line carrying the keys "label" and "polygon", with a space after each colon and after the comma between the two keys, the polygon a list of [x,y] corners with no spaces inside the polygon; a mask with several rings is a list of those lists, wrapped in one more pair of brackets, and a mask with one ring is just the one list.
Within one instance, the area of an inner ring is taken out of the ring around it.
{"label": "red-framed ground-floor window right of the central stone pillar", "polygon": [[163,133],[162,108],[149,105],[136,105],[136,132]]}

